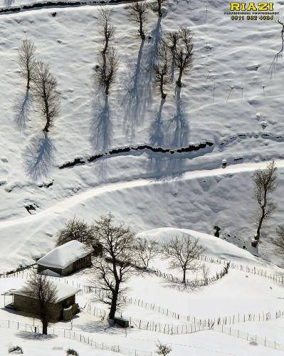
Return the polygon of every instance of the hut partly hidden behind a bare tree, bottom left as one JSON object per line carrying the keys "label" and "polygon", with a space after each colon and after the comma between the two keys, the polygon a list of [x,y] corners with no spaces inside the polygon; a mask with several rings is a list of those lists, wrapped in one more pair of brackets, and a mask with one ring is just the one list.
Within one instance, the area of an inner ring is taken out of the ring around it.
{"label": "hut partly hidden behind a bare tree, bottom left", "polygon": [[[78,304],[75,303],[75,295],[80,289],[63,283],[53,282],[56,285],[57,296],[55,303],[51,303],[51,320],[70,320],[73,315],[79,313]],[[39,307],[36,298],[26,295],[23,288],[12,291],[13,307],[15,310],[39,315]]]}

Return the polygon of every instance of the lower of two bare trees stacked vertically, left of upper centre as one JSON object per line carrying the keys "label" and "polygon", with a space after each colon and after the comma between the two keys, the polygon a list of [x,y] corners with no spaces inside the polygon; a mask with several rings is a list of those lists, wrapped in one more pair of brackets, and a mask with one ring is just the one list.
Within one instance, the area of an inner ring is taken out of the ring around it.
{"label": "lower of two bare trees stacked vertically, left of upper centre", "polygon": [[98,83],[105,88],[105,95],[108,95],[110,86],[115,81],[119,66],[119,58],[115,48],[111,47],[105,54],[100,53],[98,63]]}

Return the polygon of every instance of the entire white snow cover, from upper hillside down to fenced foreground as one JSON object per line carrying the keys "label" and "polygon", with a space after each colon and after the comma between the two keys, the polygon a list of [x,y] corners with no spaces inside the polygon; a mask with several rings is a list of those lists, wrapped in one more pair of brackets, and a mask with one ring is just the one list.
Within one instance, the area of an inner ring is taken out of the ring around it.
{"label": "entire white snow cover, from upper hillside down to fenced foreground", "polygon": [[[0,0],[0,8],[35,2]],[[121,310],[131,320],[127,331],[107,326],[88,269],[51,276],[80,289],[82,310],[72,324],[51,325],[46,339],[34,333],[39,320],[5,308],[11,296],[4,293],[21,288],[28,271],[0,278],[0,355],[11,355],[11,343],[27,356],[65,355],[68,347],[80,356],[154,356],[157,340],[172,345],[173,356],[283,355],[283,261],[271,244],[284,214],[282,26],[232,21],[225,0],[166,0],[162,19],[149,11],[141,43],[127,1],[105,6],[120,56],[108,106],[95,83],[99,5],[0,11],[0,272],[35,263],[74,215],[90,223],[110,211],[139,236],[199,238],[212,278],[231,265],[208,286],[185,290],[154,273],[180,277],[158,256],[152,272],[128,282]],[[275,1],[274,11],[283,14],[284,1]],[[194,69],[182,90],[174,73],[161,103],[149,66],[159,38],[179,25],[194,31]],[[46,135],[20,77],[24,38],[49,63],[61,93],[61,114]],[[189,145],[196,149],[179,152]],[[252,177],[273,159],[278,209],[255,251]],[[221,239],[212,236],[215,225]]]}

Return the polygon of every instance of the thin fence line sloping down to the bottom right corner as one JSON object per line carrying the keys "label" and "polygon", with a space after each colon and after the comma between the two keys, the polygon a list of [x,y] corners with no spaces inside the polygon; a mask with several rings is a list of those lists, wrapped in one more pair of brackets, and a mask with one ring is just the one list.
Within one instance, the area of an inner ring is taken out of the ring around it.
{"label": "thin fence line sloping down to the bottom right corner", "polygon": [[276,341],[268,340],[267,337],[260,337],[258,335],[253,335],[250,333],[243,332],[241,330],[234,330],[231,327],[226,327],[225,325],[214,325],[213,330],[219,331],[220,333],[238,337],[243,340],[247,340],[254,345],[263,345],[265,347],[270,347],[274,350],[284,351],[284,345]]}

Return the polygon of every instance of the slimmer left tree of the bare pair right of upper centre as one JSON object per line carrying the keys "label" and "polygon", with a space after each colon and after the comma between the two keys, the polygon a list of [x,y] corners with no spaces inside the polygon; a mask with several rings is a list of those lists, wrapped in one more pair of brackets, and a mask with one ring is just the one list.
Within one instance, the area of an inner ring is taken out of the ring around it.
{"label": "slimmer left tree of the bare pair right of upper centre", "polygon": [[164,93],[164,85],[169,83],[169,50],[167,43],[164,40],[159,41],[157,59],[152,69],[161,97],[162,99],[165,99],[167,94]]}

